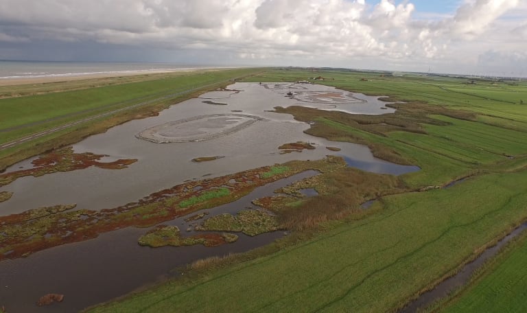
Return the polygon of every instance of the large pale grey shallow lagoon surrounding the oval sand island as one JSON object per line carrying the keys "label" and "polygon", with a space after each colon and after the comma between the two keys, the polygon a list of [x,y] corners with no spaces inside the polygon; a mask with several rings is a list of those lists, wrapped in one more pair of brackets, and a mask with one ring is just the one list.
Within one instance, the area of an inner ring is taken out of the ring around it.
{"label": "large pale grey shallow lagoon surrounding the oval sand island", "polygon": [[[291,115],[270,112],[275,106],[307,105],[314,102],[298,102],[288,97],[290,84],[235,83],[227,91],[205,93],[199,98],[187,100],[161,112],[157,117],[129,121],[111,128],[104,134],[94,135],[73,146],[75,152],[107,154],[103,161],[113,159],[139,159],[124,170],[104,170],[90,167],[74,172],[59,172],[40,177],[24,177],[0,188],[14,192],[12,198],[0,202],[0,216],[21,213],[27,209],[51,205],[76,203],[77,209],[106,209],[133,202],[160,189],[178,185],[191,179],[207,176],[223,176],[255,167],[283,163],[286,161],[322,159],[326,154],[346,156],[350,164],[363,170],[379,173],[401,174],[412,172],[417,167],[393,165],[375,159],[366,146],[355,143],[337,143],[313,137],[303,132],[309,125],[295,121]],[[329,86],[301,84],[303,92],[326,94],[342,92]],[[336,102],[338,109],[347,106],[362,106],[362,111],[377,113],[379,103],[372,98],[354,94],[355,102]],[[227,105],[206,104],[204,99],[220,100]],[[328,100],[324,100],[327,102]],[[385,102],[381,102],[383,105]],[[196,142],[152,143],[136,137],[143,130],[173,121],[192,119],[201,115],[228,115],[231,111],[259,117],[246,128],[229,135]],[[387,113],[388,110],[382,110]],[[301,153],[280,154],[283,143],[309,141],[317,148]],[[330,152],[326,146],[340,148]],[[225,156],[215,161],[195,163],[200,156]],[[13,165],[9,171],[27,168],[28,161]],[[364,167],[362,166],[364,165]],[[377,166],[378,165],[378,166]]]}

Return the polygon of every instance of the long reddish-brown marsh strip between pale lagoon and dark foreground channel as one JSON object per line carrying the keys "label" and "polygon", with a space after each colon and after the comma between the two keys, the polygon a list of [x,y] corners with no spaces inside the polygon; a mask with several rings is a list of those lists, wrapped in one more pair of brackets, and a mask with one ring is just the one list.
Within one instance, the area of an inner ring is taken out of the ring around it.
{"label": "long reddish-brown marsh strip between pale lagoon and dark foreground channel", "polygon": [[[0,216],[0,224],[11,229],[8,236],[1,237],[0,260],[88,240],[100,233],[125,227],[152,227],[200,209],[232,202],[258,186],[281,178],[307,170],[327,171],[344,164],[341,158],[332,156],[318,161],[290,161],[284,165],[190,181],[113,209],[60,211],[34,219],[27,218],[27,212]],[[198,186],[200,188],[196,189]],[[24,229],[32,231],[28,233]]]}

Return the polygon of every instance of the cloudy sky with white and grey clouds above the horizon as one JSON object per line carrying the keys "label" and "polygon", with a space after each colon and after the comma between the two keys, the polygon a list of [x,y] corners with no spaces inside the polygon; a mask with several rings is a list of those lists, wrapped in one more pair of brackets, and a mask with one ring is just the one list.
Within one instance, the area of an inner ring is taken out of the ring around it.
{"label": "cloudy sky with white and grey clouds above the horizon", "polygon": [[527,0],[0,0],[0,59],[527,76]]}

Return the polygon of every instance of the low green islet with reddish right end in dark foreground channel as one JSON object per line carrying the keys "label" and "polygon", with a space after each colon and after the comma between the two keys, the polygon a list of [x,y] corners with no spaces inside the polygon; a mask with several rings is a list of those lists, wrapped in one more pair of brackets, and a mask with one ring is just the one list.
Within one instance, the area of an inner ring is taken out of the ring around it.
{"label": "low green islet with reddish right end in dark foreground channel", "polygon": [[[194,246],[203,244],[204,246],[217,246],[220,242],[235,242],[237,235],[224,233],[222,235],[195,235],[182,237],[177,226],[160,226],[152,229],[145,235],[139,237],[138,243],[141,246],[159,248],[161,246]],[[220,243],[221,244],[221,243]]]}

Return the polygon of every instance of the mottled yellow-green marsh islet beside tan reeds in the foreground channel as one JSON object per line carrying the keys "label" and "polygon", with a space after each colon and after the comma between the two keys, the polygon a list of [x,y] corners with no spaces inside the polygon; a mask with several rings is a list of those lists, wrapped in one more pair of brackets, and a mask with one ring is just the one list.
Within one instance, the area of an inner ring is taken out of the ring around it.
{"label": "mottled yellow-green marsh islet beside tan reeds in the foreground channel", "polygon": [[196,230],[200,231],[235,231],[255,236],[279,229],[277,218],[261,210],[242,210],[233,216],[220,214],[204,220]]}

